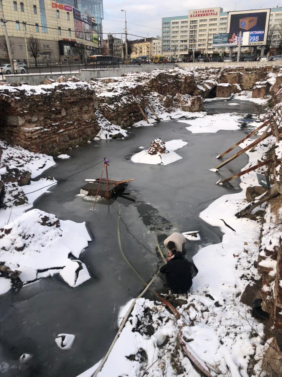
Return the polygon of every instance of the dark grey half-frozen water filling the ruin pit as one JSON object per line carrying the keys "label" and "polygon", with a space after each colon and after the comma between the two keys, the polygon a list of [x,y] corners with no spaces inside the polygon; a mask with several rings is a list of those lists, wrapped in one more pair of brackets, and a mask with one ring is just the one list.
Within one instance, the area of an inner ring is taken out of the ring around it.
{"label": "dark grey half-frozen water filling the ruin pit", "polygon": [[[208,110],[210,104],[213,111],[223,111],[221,101],[205,104]],[[235,111],[235,106],[229,107]],[[244,103],[243,107],[241,113],[256,110],[251,103]],[[198,215],[219,196],[236,192],[239,181],[233,181],[233,189],[218,186],[215,182],[219,176],[208,169],[218,163],[215,157],[219,153],[247,131],[191,134],[185,126],[170,121],[131,129],[126,140],[92,142],[68,151],[71,159],[57,161],[56,166],[44,172],[43,176],[61,179],[107,156],[111,160],[110,178],[136,178],[126,189],[135,202],[119,198],[109,205],[97,204],[93,212],[93,203],[76,197],[84,179],[101,175],[102,164],[58,182],[51,188],[52,195],[45,194],[35,202],[36,208],[60,219],[86,221],[92,242],[80,259],[91,279],[73,289],[54,276],[38,280],[18,293],[10,291],[1,296],[3,375],[75,377],[104,356],[116,334],[120,306],[136,297],[143,285],[120,252],[118,233],[126,258],[145,281],[161,265],[156,255],[158,240],[161,242],[173,231],[200,231],[201,241],[187,242],[188,259],[199,247],[220,241],[219,229],[205,224]],[[133,164],[126,158],[139,151],[139,146],[148,147],[157,137],[187,141],[189,145],[176,151],[183,159],[168,166],[153,166]],[[247,156],[242,155],[223,167],[221,175],[233,175],[246,163]],[[69,351],[55,344],[59,333],[75,334]],[[25,352],[33,358],[22,366],[18,358]]]}

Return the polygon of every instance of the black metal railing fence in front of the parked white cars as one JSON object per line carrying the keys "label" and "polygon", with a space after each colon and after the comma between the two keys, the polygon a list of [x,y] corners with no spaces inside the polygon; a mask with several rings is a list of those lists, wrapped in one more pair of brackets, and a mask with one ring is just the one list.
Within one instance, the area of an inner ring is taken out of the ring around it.
{"label": "black metal railing fence in front of the parked white cars", "polygon": [[77,72],[81,69],[113,69],[119,68],[120,63],[116,60],[93,63],[86,60],[8,60],[0,59],[0,74],[36,74],[36,73],[64,73]]}

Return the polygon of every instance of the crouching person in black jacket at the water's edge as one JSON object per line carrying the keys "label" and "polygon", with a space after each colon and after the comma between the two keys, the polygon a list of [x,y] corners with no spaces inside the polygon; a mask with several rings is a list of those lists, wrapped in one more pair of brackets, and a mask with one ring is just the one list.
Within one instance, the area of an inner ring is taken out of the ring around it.
{"label": "crouching person in black jacket at the water's edge", "polygon": [[184,259],[181,251],[176,251],[174,257],[162,266],[160,272],[166,273],[166,281],[173,293],[185,293],[192,286],[192,263]]}

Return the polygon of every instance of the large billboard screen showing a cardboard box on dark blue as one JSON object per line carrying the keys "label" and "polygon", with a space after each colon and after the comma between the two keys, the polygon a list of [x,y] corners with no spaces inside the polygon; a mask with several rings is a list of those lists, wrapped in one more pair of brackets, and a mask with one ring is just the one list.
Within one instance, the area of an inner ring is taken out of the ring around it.
{"label": "large billboard screen showing a cardboard box on dark blue", "polygon": [[266,44],[270,9],[228,12],[229,33],[250,32],[248,46]]}

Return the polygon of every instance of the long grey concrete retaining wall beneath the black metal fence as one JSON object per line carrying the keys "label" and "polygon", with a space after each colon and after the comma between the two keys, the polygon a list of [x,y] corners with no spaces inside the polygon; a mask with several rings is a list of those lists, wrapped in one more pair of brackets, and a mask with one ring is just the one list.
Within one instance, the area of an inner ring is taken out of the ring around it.
{"label": "long grey concrete retaining wall beneath the black metal fence", "polygon": [[39,85],[45,78],[51,78],[56,80],[59,76],[76,76],[80,80],[89,81],[92,78],[100,77],[120,77],[124,73],[129,72],[150,72],[154,69],[167,69],[174,67],[175,64],[144,64],[141,66],[123,66],[116,69],[81,69],[74,72],[57,72],[57,73],[37,73],[37,74],[25,74],[25,75],[6,75],[5,81],[7,83],[20,83],[26,82],[29,85]]}

